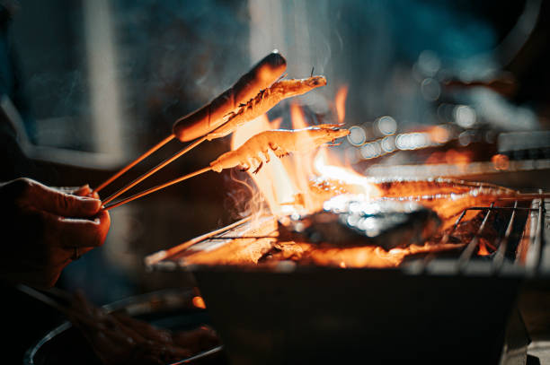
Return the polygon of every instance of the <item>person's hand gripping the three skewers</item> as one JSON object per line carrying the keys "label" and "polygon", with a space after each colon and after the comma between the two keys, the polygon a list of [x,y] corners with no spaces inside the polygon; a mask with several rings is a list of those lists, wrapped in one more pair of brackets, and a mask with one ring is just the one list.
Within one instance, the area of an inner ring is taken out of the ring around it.
{"label": "person's hand gripping the three skewers", "polygon": [[50,287],[71,261],[103,244],[111,220],[90,187],[46,187],[29,178],[0,183],[0,278]]}

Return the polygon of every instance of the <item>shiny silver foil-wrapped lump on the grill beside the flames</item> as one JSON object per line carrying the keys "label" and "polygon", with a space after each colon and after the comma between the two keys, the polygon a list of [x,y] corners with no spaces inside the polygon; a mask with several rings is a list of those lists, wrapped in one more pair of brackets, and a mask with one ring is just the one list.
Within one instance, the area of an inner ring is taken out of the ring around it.
{"label": "shiny silver foil-wrapped lump on the grill beside the flames", "polygon": [[326,201],[320,212],[282,223],[279,239],[298,235],[337,246],[404,248],[430,239],[440,223],[437,213],[420,204],[342,195]]}

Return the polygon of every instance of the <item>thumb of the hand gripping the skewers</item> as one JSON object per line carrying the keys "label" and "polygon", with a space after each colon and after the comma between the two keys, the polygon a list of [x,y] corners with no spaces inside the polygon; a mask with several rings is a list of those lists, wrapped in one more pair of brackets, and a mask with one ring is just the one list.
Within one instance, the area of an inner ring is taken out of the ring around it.
{"label": "thumb of the hand gripping the skewers", "polygon": [[33,182],[28,191],[34,207],[65,217],[90,217],[102,206],[98,199],[62,193],[39,182]]}

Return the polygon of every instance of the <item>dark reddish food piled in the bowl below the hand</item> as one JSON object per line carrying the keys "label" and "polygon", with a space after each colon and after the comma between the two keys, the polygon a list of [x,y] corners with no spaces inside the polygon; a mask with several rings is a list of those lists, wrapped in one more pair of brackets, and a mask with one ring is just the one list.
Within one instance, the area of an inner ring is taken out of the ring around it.
{"label": "dark reddish food piled in the bowl below the hand", "polygon": [[104,365],[164,365],[191,357],[217,344],[208,326],[172,333],[125,313],[107,313],[76,293],[69,318]]}

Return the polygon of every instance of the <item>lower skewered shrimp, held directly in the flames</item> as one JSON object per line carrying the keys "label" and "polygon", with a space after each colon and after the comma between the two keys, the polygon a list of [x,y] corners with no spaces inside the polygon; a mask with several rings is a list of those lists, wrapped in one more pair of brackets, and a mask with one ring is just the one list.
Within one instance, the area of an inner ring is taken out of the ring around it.
{"label": "lower skewered shrimp, held directly in the flames", "polygon": [[262,168],[263,162],[270,161],[270,150],[280,158],[290,152],[314,150],[324,143],[349,134],[349,130],[335,124],[310,126],[296,130],[265,131],[253,135],[235,151],[219,156],[216,161],[210,163],[210,168],[221,172],[222,169],[231,169],[240,165],[244,170],[255,167],[253,173],[256,173]]}

